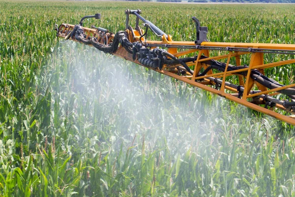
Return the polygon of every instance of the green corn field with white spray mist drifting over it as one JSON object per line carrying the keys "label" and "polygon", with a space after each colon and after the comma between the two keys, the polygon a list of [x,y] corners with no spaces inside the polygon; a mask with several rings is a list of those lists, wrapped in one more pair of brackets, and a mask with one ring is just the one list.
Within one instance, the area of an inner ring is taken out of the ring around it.
{"label": "green corn field with white spray mist drifting over it", "polygon": [[295,42],[293,4],[0,0],[0,197],[295,197],[293,126],[56,37],[94,13],[124,30],[127,8],[174,40],[196,16],[210,41]]}

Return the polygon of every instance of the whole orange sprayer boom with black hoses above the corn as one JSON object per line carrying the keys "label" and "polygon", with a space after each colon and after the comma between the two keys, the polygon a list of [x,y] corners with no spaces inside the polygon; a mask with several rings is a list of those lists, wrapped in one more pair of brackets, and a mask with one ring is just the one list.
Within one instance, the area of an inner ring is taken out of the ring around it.
{"label": "whole orange sprayer boom with black hoses above the corn", "polygon": [[[86,18],[100,19],[100,14],[95,14],[83,17],[78,25],[59,25],[57,36],[94,46],[295,125],[295,84],[280,84],[265,75],[265,69],[295,63],[295,44],[209,42],[207,27],[201,27],[195,17],[196,40],[173,41],[171,35],[143,18],[141,10],[127,9],[125,13],[124,31],[83,27]],[[132,15],[136,17],[134,29],[129,25]],[[147,40],[148,32],[157,35],[159,41]],[[287,60],[266,62],[265,54],[281,54]],[[248,56],[249,62],[242,66],[243,56]]]}

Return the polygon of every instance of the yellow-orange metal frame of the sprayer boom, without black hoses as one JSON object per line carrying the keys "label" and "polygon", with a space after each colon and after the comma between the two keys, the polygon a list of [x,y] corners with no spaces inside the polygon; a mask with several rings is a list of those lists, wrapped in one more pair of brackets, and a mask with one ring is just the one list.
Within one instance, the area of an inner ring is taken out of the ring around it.
{"label": "yellow-orange metal frame of the sprayer boom, without black hoses", "polygon": [[[62,34],[59,34],[60,37],[65,37],[64,34],[67,34],[70,30],[74,28],[74,25],[69,25],[69,24],[62,24],[60,26],[60,30],[62,31]],[[95,29],[89,29],[89,28],[84,28],[85,33],[87,36],[99,36],[97,30]],[[141,30],[142,31],[142,30]],[[143,34],[143,31],[139,33],[137,30],[133,30],[133,33],[130,30],[126,30],[126,33],[129,36],[129,41],[134,42],[134,41],[140,41],[140,35]],[[114,34],[110,36],[110,39],[108,40],[111,42],[111,39],[114,37]],[[169,44],[169,45],[191,45],[195,46],[195,42],[193,41],[173,41],[171,35],[168,35],[168,38],[165,37],[165,35],[162,36],[162,41],[152,41],[152,40],[145,40],[144,38],[141,38],[143,42],[147,44]],[[208,47],[242,47],[242,48],[256,48],[256,49],[279,49],[279,50],[295,50],[295,44],[265,44],[265,43],[231,43],[231,42],[202,42],[201,46],[208,46]],[[233,51],[228,51],[227,54],[225,55],[218,55],[218,56],[209,56],[210,55],[210,50],[209,49],[187,49],[184,51],[177,52],[177,48],[168,48],[167,51],[171,54],[173,54],[176,57],[180,56],[185,56],[191,53],[198,53],[197,60],[193,63],[187,63],[188,66],[194,66],[194,74],[191,75],[187,72],[186,75],[177,75],[177,70],[176,66],[173,67],[171,66],[163,66],[161,70],[159,69],[153,69],[157,72],[163,73],[165,75],[171,76],[173,78],[176,78],[178,80],[181,80],[185,83],[188,83],[190,85],[196,86],[198,88],[201,88],[203,90],[209,91],[211,93],[217,94],[221,97],[224,97],[226,99],[232,100],[234,102],[237,102],[239,104],[242,104],[246,107],[249,107],[251,109],[257,110],[259,112],[265,113],[269,116],[272,116],[276,119],[279,119],[281,121],[284,121],[286,123],[295,125],[295,119],[293,116],[290,114],[288,115],[283,115],[280,113],[277,109],[267,109],[262,106],[259,106],[258,104],[254,104],[249,99],[259,96],[259,95],[269,95],[273,96],[276,94],[280,94],[277,91],[294,87],[295,84],[287,85],[281,88],[276,88],[276,89],[267,89],[265,86],[255,82],[251,77],[250,73],[251,70],[253,69],[258,69],[261,73],[264,74],[264,69],[270,68],[270,67],[275,67],[275,66],[284,66],[288,64],[293,64],[295,63],[295,59],[290,59],[286,61],[279,61],[279,62],[274,62],[274,63],[268,63],[264,64],[264,53],[252,53],[252,52],[233,52]],[[126,59],[128,61],[134,62],[136,64],[141,65],[137,60],[133,61],[132,59],[132,54],[128,53],[124,48],[119,47],[119,49],[113,53],[114,55],[121,57],[123,59]],[[205,55],[208,58],[206,59],[200,59],[201,55]],[[238,69],[238,70],[232,70],[232,71],[227,71],[227,67],[229,66],[231,58],[235,58],[236,60],[236,66],[240,66],[240,59],[241,56],[250,54],[250,63],[247,68],[243,69]],[[197,73],[201,71],[202,68],[206,68],[207,65],[204,63],[207,60],[222,60],[222,59],[227,59],[226,62],[226,71],[224,72],[218,72],[218,73],[213,73],[211,70],[207,73],[205,76],[198,77]],[[144,66],[144,65],[142,65]],[[178,65],[179,66],[179,65]],[[241,71],[247,71],[247,76],[242,76],[238,75],[237,72]],[[244,93],[242,98],[237,98],[237,90],[234,88],[228,87],[225,85],[226,82],[226,77],[231,76],[231,75],[237,75],[238,76],[238,81],[239,83],[237,85],[243,86],[244,87]],[[215,78],[222,78],[222,85],[220,87],[220,90],[216,90],[212,88],[212,85],[214,83],[212,81],[209,81],[206,79],[206,77],[215,77]],[[203,79],[203,81],[196,82],[195,80],[198,79]],[[255,94],[250,94],[250,91],[254,89],[254,84],[256,84],[256,87],[261,91],[259,93]],[[271,94],[273,93],[273,94]],[[261,102],[263,102],[263,99],[260,99]],[[276,108],[278,109],[283,109],[286,110],[286,108],[282,105],[277,104]],[[288,111],[289,113],[293,113],[292,111]]]}

